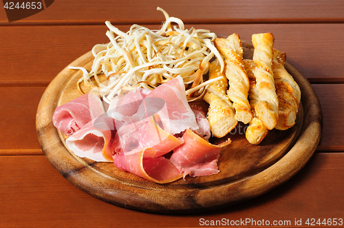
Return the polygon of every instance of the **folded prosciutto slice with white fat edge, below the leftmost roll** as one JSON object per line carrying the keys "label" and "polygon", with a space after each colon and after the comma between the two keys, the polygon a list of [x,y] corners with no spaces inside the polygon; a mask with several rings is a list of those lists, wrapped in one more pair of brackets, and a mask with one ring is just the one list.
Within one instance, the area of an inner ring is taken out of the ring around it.
{"label": "folded prosciutto slice with white fat edge, below the leftmost roll", "polygon": [[111,150],[116,134],[112,117],[101,116],[88,122],[66,140],[69,150],[78,157],[94,161],[113,161]]}

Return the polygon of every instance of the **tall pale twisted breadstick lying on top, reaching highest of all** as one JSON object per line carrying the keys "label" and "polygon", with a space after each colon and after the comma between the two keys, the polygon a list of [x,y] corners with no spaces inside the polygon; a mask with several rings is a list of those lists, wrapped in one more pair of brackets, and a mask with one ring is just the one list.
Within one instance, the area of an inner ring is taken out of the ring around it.
{"label": "tall pale twisted breadstick lying on top, reaching highest of all", "polygon": [[255,47],[253,61],[257,64],[255,78],[259,93],[259,101],[255,104],[255,111],[266,128],[272,130],[279,119],[279,101],[272,73],[274,36],[272,33],[253,34],[252,43]]}

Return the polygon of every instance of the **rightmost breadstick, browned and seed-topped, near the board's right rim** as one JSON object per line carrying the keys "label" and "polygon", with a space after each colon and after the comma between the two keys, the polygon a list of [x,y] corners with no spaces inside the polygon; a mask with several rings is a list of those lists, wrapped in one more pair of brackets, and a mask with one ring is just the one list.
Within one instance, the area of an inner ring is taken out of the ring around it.
{"label": "rightmost breadstick, browned and seed-topped, near the board's right rim", "polygon": [[279,121],[275,126],[278,130],[287,130],[294,126],[301,100],[300,87],[284,68],[285,62],[286,54],[274,49],[272,71],[279,100]]}

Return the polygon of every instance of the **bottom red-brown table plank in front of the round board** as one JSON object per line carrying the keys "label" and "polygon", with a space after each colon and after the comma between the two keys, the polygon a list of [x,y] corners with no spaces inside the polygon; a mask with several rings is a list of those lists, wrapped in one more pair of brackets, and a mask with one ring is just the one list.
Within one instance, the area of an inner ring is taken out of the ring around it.
{"label": "bottom red-brown table plank in front of the round board", "polygon": [[290,181],[252,201],[214,212],[164,215],[89,196],[58,174],[44,156],[0,156],[0,227],[200,227],[201,218],[264,218],[271,223],[290,220],[293,225],[295,219],[342,218],[343,162],[338,153],[316,153]]}

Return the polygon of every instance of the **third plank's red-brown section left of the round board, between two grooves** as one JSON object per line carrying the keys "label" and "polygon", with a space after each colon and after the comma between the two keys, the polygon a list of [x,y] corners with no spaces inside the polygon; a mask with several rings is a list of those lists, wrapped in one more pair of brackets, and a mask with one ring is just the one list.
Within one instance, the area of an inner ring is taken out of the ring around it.
{"label": "third plank's red-brown section left of the round board, between two grooves", "polygon": [[[36,109],[44,87],[0,87],[4,94],[0,102],[1,153],[16,150],[36,152],[40,146],[36,139]],[[32,151],[31,151],[32,150]]]}

